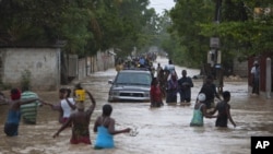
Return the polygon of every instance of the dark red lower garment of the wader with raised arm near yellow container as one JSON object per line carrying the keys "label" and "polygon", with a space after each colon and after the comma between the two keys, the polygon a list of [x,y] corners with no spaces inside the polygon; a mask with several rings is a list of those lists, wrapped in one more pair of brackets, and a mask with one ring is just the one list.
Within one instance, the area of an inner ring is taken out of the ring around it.
{"label": "dark red lower garment of the wader with raised arm near yellow container", "polygon": [[90,140],[90,129],[88,125],[74,125],[72,127],[72,137],[70,139],[71,144],[79,144],[79,143],[85,143],[91,144]]}

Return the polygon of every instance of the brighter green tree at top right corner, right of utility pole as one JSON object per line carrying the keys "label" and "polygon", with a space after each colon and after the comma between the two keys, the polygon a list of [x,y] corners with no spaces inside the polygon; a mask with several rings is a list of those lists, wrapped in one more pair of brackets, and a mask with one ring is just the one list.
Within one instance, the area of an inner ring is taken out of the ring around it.
{"label": "brighter green tree at top right corner, right of utility pole", "polygon": [[[222,49],[225,52],[246,60],[249,56],[271,51],[273,43],[272,14],[261,13],[257,16],[254,8],[270,8],[271,1],[249,0],[226,0],[223,5],[223,22],[215,25],[203,23],[201,34],[211,37],[218,35],[222,42]],[[234,14],[234,15],[230,15]]]}

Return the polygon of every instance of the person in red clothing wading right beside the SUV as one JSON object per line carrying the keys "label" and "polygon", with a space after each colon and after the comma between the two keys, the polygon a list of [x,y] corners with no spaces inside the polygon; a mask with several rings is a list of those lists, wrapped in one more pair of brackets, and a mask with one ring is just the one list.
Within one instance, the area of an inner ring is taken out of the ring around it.
{"label": "person in red clothing wading right beside the SUV", "polygon": [[158,84],[157,78],[153,78],[151,82],[150,99],[151,107],[161,107],[163,105],[162,90]]}

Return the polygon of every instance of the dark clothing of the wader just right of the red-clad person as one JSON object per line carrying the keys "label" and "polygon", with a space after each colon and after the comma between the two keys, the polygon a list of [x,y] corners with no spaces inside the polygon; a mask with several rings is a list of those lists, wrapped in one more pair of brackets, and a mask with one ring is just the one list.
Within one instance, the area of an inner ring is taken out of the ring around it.
{"label": "dark clothing of the wader just right of the red-clad person", "polygon": [[177,103],[177,91],[178,91],[177,80],[169,80],[167,84],[168,85],[167,85],[166,103]]}

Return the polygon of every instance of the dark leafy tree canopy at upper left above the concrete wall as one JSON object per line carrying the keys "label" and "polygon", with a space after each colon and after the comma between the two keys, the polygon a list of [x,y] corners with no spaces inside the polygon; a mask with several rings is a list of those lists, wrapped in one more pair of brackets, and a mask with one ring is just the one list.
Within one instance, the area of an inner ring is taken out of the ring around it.
{"label": "dark leafy tree canopy at upper left above the concrete wall", "polygon": [[[0,44],[47,45],[80,57],[114,47],[128,55],[151,43],[156,19],[149,0],[1,0]],[[153,17],[153,19],[152,19]],[[152,31],[151,31],[152,29]]]}

